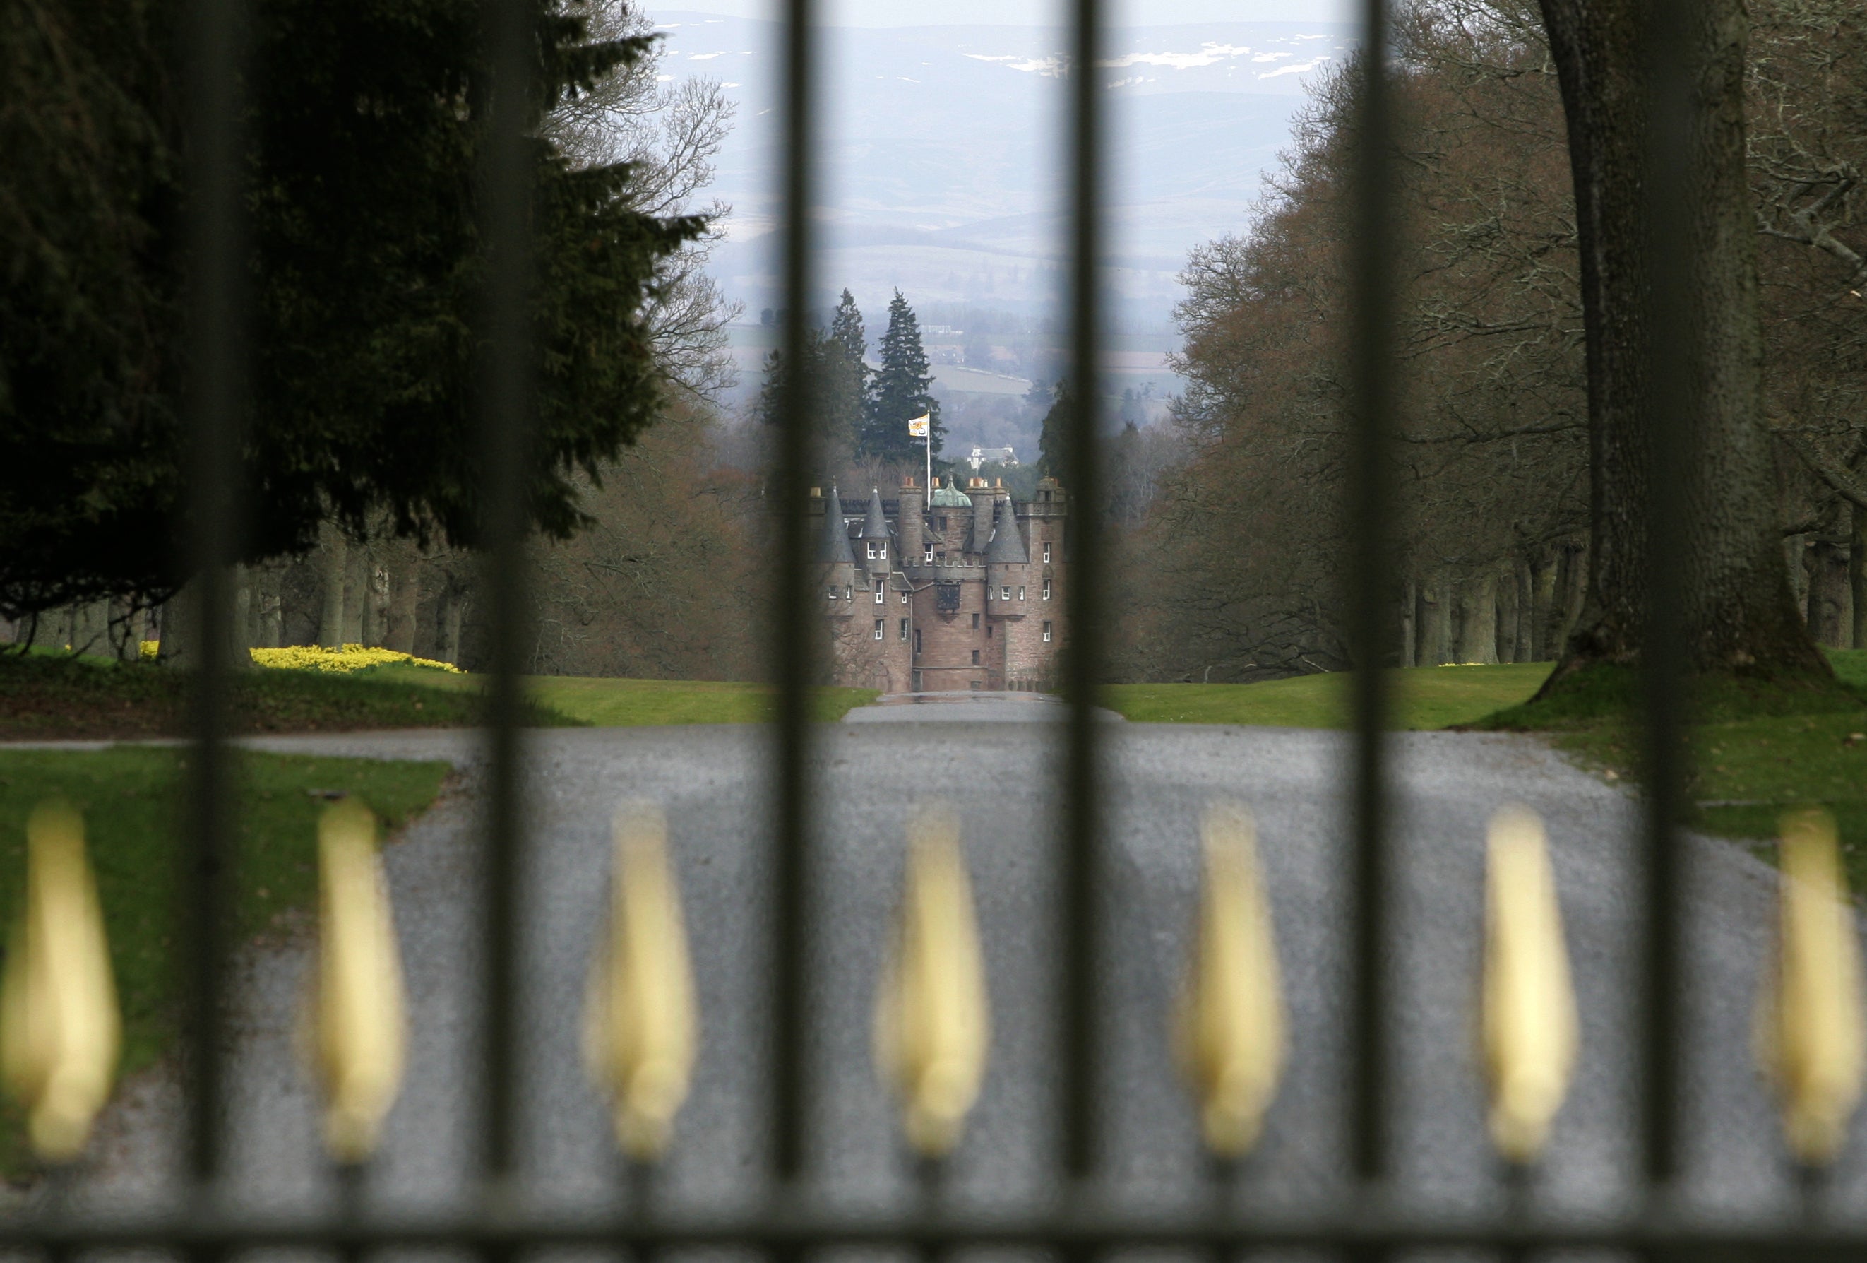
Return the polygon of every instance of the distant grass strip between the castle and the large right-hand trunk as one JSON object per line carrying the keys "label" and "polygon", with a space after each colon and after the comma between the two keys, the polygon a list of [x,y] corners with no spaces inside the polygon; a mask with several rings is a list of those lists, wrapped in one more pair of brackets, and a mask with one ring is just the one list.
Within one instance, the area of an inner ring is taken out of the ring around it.
{"label": "distant grass strip between the castle and the large right-hand trunk", "polygon": [[[1391,671],[1395,729],[1447,729],[1512,706],[1551,663],[1411,667]],[[1264,684],[1113,684],[1103,704],[1144,723],[1258,723],[1279,729],[1348,727],[1346,671]]]}

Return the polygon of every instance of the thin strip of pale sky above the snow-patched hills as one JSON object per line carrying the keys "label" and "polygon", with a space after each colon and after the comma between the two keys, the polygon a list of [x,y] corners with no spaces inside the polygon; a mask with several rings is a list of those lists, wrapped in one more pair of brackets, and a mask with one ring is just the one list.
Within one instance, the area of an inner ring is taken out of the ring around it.
{"label": "thin strip of pale sky above the snow-patched hills", "polygon": [[[657,9],[777,17],[777,0],[663,0]],[[1352,22],[1354,0],[1107,0],[1113,26],[1180,22]],[[1051,26],[1064,21],[1062,0],[818,0],[831,26]]]}

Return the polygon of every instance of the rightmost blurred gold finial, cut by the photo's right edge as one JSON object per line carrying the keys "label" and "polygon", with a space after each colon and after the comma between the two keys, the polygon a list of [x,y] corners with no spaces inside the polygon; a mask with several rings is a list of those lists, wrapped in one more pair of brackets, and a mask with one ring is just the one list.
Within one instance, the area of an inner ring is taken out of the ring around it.
{"label": "rightmost blurred gold finial, cut by the photo's right edge", "polygon": [[1783,816],[1776,962],[1759,994],[1757,1056],[1783,1100],[1783,1134],[1805,1166],[1832,1162],[1861,1095],[1861,968],[1835,818]]}

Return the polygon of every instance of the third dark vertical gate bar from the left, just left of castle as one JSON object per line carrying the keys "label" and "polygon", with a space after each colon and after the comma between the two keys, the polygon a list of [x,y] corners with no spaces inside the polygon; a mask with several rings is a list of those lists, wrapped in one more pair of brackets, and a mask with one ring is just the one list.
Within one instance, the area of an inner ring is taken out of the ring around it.
{"label": "third dark vertical gate bar from the left, just left of castle", "polygon": [[[784,394],[773,495],[779,508],[777,818],[771,925],[771,1164],[780,1186],[805,1166],[807,861],[810,841],[810,688],[816,660],[807,628],[807,510],[810,387],[807,359],[816,49],[812,0],[784,0]],[[782,1188],[780,1188],[782,1194]]]}

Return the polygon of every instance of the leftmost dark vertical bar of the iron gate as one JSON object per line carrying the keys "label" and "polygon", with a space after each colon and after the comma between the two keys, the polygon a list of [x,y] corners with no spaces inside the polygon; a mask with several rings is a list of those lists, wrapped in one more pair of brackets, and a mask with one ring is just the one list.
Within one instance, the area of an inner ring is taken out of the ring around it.
{"label": "leftmost dark vertical bar of the iron gate", "polygon": [[[177,876],[177,942],[187,1001],[187,1166],[205,1194],[222,1164],[220,1011],[226,988],[228,906],[235,833],[233,766],[226,747],[228,660],[233,615],[230,568],[239,557],[239,441],[246,405],[245,215],[241,75],[246,56],[243,0],[189,6],[189,536],[192,602],[175,628],[196,654],[190,689],[190,794]],[[172,605],[174,609],[174,605]],[[166,630],[164,630],[166,632]],[[192,639],[192,645],[189,641]]]}

